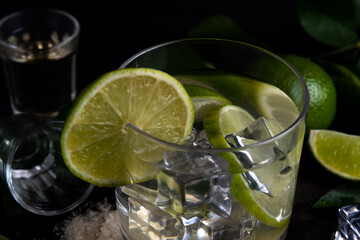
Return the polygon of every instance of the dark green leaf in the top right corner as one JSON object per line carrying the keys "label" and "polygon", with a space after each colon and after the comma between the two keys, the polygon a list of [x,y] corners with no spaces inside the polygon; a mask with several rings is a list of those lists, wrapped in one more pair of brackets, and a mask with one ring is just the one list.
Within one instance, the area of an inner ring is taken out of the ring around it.
{"label": "dark green leaf in the top right corner", "polygon": [[327,45],[342,47],[357,41],[355,0],[298,0],[301,25],[313,38]]}

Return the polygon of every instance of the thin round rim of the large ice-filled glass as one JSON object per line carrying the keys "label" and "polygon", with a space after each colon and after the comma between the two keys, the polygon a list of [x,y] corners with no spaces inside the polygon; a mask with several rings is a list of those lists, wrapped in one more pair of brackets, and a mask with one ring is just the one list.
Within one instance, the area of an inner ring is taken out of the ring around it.
{"label": "thin round rim of the large ice-filled glass", "polygon": [[306,115],[309,109],[309,104],[310,104],[310,96],[309,96],[309,90],[308,87],[306,85],[305,80],[303,79],[303,77],[301,76],[301,74],[295,69],[295,67],[293,67],[290,63],[288,63],[285,59],[281,58],[280,56],[270,52],[269,50],[263,49],[261,47],[249,44],[249,43],[245,43],[245,42],[240,42],[240,41],[235,41],[235,40],[228,40],[228,39],[220,39],[220,38],[186,38],[186,39],[179,39],[179,40],[173,40],[173,41],[168,41],[168,42],[164,42],[164,43],[160,43],[160,44],[156,44],[153,45],[151,47],[145,48],[137,53],[135,53],[134,55],[132,55],[130,58],[128,58],[123,64],[120,65],[119,69],[123,69],[126,68],[127,65],[129,65],[129,63],[131,63],[132,61],[134,61],[136,58],[138,58],[139,56],[142,56],[148,52],[160,49],[162,47],[166,47],[169,45],[174,45],[174,44],[182,44],[182,43],[193,43],[193,42],[224,42],[224,43],[235,43],[235,44],[240,44],[249,48],[252,48],[255,51],[259,51],[265,55],[268,55],[272,58],[274,58],[275,60],[283,63],[289,70],[292,71],[292,73],[296,76],[296,78],[300,81],[301,83],[301,87],[302,87],[302,91],[304,93],[304,105],[303,108],[301,109],[299,116],[295,119],[295,121],[293,121],[292,124],[290,124],[286,129],[282,130],[280,133],[276,134],[273,137],[267,138],[265,140],[262,141],[258,141],[256,143],[252,143],[249,145],[246,145],[244,147],[235,147],[235,148],[210,148],[210,149],[201,149],[201,148],[197,148],[195,146],[189,146],[189,145],[180,145],[180,144],[176,144],[176,143],[171,143],[162,139],[159,139],[157,137],[154,137],[152,135],[150,135],[149,133],[146,133],[144,131],[142,131],[141,129],[139,129],[137,126],[134,126],[131,123],[128,123],[127,125],[133,129],[135,132],[152,139],[155,142],[158,142],[161,145],[165,145],[167,147],[170,148],[174,148],[174,149],[178,149],[178,150],[183,150],[183,151],[196,151],[196,152],[212,152],[212,153],[223,153],[223,152],[236,152],[236,151],[240,151],[240,150],[244,150],[244,149],[249,149],[249,148],[255,148],[255,147],[261,147],[264,145],[267,145],[269,143],[278,141],[282,138],[284,138],[285,136],[287,136],[288,134],[290,134],[298,125],[300,125],[300,123],[302,121],[306,120]]}

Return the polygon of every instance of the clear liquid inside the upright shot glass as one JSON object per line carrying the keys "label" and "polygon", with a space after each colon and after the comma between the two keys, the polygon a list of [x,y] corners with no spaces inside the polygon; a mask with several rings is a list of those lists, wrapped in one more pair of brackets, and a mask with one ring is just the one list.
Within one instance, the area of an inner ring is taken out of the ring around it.
{"label": "clear liquid inside the upright shot glass", "polygon": [[8,42],[32,52],[4,59],[3,67],[15,112],[52,113],[75,98],[75,52],[54,46],[68,36],[60,32],[20,31]]}

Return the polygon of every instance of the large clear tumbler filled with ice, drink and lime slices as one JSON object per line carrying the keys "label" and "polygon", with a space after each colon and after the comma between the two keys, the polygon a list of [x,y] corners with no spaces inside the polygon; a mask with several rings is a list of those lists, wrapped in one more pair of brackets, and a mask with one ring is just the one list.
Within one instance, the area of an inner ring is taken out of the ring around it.
{"label": "large clear tumbler filled with ice, drink and lime slices", "polygon": [[166,142],[131,126],[149,146],[147,152],[136,148],[134,152],[144,157],[161,154],[154,163],[159,169],[154,179],[115,190],[123,236],[284,239],[309,106],[307,86],[300,74],[267,50],[220,39],[160,44],[121,65],[140,67],[158,69],[183,84],[217,91],[246,109],[254,121],[222,136],[219,141],[225,141],[229,148],[214,147],[201,120],[195,120],[185,145]]}

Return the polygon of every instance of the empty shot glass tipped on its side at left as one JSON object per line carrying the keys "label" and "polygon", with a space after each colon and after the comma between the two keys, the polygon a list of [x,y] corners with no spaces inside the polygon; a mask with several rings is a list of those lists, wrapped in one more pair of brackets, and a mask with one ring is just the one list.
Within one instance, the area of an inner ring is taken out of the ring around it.
{"label": "empty shot glass tipped on its side at left", "polygon": [[0,174],[14,199],[38,215],[59,215],[81,204],[93,185],[65,166],[62,121],[16,114],[0,123]]}

